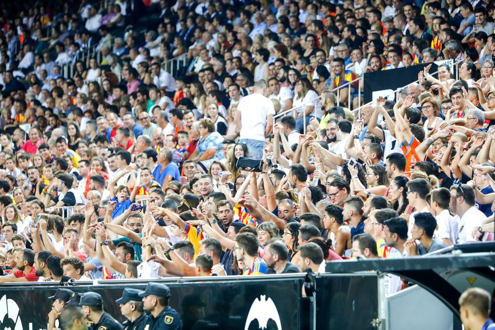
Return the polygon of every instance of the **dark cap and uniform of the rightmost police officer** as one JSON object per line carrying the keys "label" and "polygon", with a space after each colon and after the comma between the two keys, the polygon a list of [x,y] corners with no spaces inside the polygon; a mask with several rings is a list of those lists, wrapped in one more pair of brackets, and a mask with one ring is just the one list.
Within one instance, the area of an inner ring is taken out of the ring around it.
{"label": "dark cap and uniform of the rightmost police officer", "polygon": [[[140,297],[148,295],[170,297],[168,286],[160,283],[148,283],[146,290],[139,293]],[[170,306],[165,307],[156,317],[148,315],[144,330],[182,330],[181,316]]]}

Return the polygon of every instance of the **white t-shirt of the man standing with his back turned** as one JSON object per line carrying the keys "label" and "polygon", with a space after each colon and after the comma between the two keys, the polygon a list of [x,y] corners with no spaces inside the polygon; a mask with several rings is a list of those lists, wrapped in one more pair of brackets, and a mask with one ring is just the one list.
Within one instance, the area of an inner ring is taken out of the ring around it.
{"label": "white t-shirt of the man standing with his back turned", "polygon": [[241,112],[241,139],[265,141],[265,128],[268,115],[274,115],[273,103],[261,94],[250,94],[239,102]]}

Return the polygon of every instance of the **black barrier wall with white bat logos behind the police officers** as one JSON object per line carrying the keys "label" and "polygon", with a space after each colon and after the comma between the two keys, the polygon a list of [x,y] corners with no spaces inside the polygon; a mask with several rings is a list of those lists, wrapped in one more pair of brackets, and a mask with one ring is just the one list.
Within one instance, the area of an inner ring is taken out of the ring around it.
{"label": "black barrier wall with white bat logos behind the police officers", "polygon": [[[297,330],[301,328],[303,274],[289,279],[237,278],[237,281],[166,283],[170,306],[182,316],[183,329]],[[143,284],[102,284],[67,287],[76,292],[101,294],[104,310],[123,322],[115,300],[124,287]],[[0,330],[46,330],[55,286],[2,286]]]}

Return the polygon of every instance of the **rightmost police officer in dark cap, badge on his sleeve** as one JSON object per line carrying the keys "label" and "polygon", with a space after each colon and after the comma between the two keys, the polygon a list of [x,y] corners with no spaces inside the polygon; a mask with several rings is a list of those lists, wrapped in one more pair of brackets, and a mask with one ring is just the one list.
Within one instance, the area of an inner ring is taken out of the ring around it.
{"label": "rightmost police officer in dark cap, badge on his sleeve", "polygon": [[144,309],[149,313],[145,330],[181,330],[182,320],[172,307],[168,306],[170,289],[160,283],[148,283],[143,297]]}

